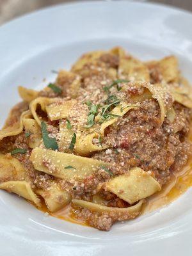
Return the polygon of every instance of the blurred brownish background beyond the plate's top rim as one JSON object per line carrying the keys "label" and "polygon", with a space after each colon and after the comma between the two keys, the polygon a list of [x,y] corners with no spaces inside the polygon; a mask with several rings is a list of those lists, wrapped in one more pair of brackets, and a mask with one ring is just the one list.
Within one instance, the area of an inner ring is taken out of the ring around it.
{"label": "blurred brownish background beyond the plate's top rim", "polygon": [[[92,0],[94,1],[94,0]],[[106,1],[118,1],[118,0],[106,0]],[[127,0],[131,1],[131,0]],[[145,2],[147,0],[132,0]],[[51,6],[54,4],[71,3],[73,0],[0,0],[0,25],[8,20],[12,20],[15,17],[23,15],[28,12]],[[77,0],[81,2],[81,0]],[[185,10],[192,11],[192,0],[148,0],[147,2],[170,4],[183,8]]]}

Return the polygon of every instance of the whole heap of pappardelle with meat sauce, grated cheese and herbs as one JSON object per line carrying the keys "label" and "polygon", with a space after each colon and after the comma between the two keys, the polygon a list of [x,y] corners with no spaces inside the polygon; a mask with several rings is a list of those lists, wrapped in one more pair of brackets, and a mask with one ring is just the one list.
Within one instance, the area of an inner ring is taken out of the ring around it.
{"label": "whole heap of pappardelle with meat sauce, grated cheese and herbs", "polygon": [[192,91],[175,56],[88,52],[19,95],[0,131],[0,188],[38,209],[109,230],[189,173]]}

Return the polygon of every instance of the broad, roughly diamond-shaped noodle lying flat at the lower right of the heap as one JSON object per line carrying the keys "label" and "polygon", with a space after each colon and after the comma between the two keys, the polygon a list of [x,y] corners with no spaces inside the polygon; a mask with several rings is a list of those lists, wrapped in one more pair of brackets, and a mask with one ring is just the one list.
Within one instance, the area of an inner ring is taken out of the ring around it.
{"label": "broad, roughly diamond-shaped noodle lying flat at the lower right of the heap", "polygon": [[157,180],[138,167],[109,180],[104,188],[129,204],[134,204],[161,190]]}

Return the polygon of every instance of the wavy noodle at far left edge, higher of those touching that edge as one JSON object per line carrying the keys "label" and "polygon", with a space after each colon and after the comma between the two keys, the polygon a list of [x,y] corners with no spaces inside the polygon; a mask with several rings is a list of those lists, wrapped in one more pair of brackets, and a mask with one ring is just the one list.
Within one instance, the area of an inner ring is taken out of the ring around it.
{"label": "wavy noodle at far left edge, higher of those touching that edge", "polygon": [[22,120],[23,118],[25,118],[25,116],[28,116],[28,115],[30,115],[30,111],[23,112],[22,115],[20,116],[19,122],[16,122],[15,124],[13,124],[13,126],[8,126],[2,129],[0,131],[0,140],[3,140],[3,138],[8,136],[15,136],[20,134],[24,128]]}

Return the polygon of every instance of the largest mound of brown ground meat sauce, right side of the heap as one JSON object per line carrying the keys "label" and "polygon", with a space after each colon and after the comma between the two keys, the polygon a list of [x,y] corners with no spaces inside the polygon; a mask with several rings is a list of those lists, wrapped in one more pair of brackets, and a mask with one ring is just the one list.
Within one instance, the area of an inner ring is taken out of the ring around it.
{"label": "largest mound of brown ground meat sauce, right side of the heap", "polygon": [[112,163],[111,170],[116,175],[140,166],[145,171],[152,170],[158,182],[165,184],[170,179],[170,167],[172,171],[179,170],[186,163],[191,148],[188,142],[180,141],[179,133],[189,131],[189,110],[180,104],[175,109],[178,116],[175,122],[170,124],[166,120],[161,127],[159,104],[145,100],[140,108],[129,111],[106,131],[104,143],[118,148],[119,154],[114,149],[108,154],[108,149],[93,157]]}

